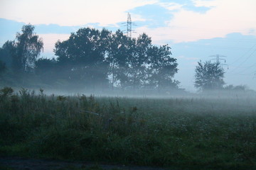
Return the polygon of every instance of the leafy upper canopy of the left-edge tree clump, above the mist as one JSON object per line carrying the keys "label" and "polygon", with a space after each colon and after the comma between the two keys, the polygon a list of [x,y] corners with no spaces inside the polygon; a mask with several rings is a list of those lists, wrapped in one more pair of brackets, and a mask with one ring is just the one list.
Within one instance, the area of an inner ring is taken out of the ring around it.
{"label": "leafy upper canopy of the left-edge tree clump, above the mist", "polygon": [[16,40],[6,41],[0,49],[0,60],[16,72],[31,72],[35,62],[43,51],[43,40],[34,33],[35,27],[25,25]]}

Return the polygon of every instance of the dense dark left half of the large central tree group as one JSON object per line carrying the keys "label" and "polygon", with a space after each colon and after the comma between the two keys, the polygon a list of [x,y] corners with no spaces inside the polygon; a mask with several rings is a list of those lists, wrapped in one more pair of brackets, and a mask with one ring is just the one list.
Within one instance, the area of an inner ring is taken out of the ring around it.
{"label": "dense dark left half of the large central tree group", "polygon": [[56,42],[54,52],[63,71],[62,79],[92,88],[106,86],[109,43],[110,31],[93,28],[81,28],[68,40]]}

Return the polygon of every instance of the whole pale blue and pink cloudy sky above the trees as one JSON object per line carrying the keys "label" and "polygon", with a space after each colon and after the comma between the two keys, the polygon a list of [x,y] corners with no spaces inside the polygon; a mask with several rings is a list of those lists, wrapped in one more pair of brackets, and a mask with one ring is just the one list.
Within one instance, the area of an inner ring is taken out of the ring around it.
{"label": "whole pale blue and pink cloudy sky above the trees", "polygon": [[255,0],[0,0],[0,46],[31,23],[43,38],[41,57],[55,57],[57,40],[83,27],[125,30],[130,13],[134,38],[146,33],[171,47],[181,88],[196,91],[197,62],[220,55],[226,85],[256,90],[255,8]]}

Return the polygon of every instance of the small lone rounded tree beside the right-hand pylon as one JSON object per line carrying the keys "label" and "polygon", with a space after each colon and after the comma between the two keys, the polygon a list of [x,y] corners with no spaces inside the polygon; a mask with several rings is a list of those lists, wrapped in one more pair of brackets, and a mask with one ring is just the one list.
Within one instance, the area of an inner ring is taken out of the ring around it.
{"label": "small lone rounded tree beside the right-hand pylon", "polygon": [[224,69],[220,62],[211,63],[210,61],[202,63],[198,62],[196,66],[195,86],[196,88],[206,91],[212,89],[223,89],[225,82],[223,81]]}

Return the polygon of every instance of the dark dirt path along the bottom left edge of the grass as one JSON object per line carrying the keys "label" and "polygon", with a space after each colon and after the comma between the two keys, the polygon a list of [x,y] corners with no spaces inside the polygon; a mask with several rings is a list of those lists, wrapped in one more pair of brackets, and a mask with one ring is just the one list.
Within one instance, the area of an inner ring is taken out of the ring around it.
{"label": "dark dirt path along the bottom left edge of the grass", "polygon": [[[26,159],[20,157],[0,157],[1,170],[62,170],[62,169],[79,169],[90,168],[95,166],[92,163],[84,162],[63,162],[53,159]],[[122,166],[122,165],[107,165],[100,164],[98,167],[106,170],[164,170],[161,168],[151,168],[146,166]]]}

